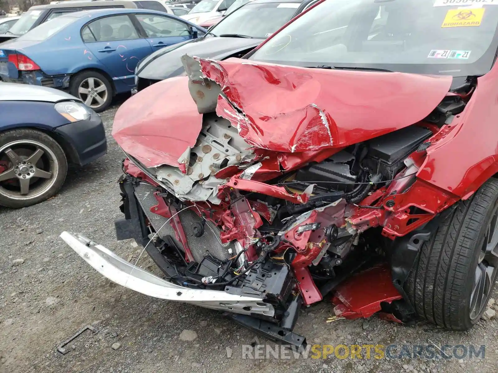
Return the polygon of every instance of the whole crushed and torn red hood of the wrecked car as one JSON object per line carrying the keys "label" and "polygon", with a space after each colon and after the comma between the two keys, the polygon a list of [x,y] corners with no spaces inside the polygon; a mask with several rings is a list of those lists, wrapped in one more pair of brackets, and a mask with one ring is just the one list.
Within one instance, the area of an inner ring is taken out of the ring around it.
{"label": "whole crushed and torn red hood of the wrecked car", "polygon": [[309,69],[235,58],[182,60],[188,77],[145,89],[116,114],[113,136],[146,167],[178,166],[195,145],[202,113],[216,111],[257,148],[317,151],[422,120],[452,82],[450,76]]}

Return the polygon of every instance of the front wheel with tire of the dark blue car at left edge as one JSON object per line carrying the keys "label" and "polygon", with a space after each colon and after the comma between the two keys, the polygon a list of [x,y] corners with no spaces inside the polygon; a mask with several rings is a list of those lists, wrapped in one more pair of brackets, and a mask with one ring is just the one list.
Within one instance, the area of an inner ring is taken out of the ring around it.
{"label": "front wheel with tire of the dark blue car at left edge", "polygon": [[52,197],[64,183],[67,160],[47,134],[29,128],[0,133],[0,205],[30,206]]}

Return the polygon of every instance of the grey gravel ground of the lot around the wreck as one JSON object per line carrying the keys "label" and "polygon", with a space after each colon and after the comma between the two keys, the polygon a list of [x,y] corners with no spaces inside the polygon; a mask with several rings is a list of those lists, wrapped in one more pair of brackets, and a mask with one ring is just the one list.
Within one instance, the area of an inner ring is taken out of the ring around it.
{"label": "grey gravel ground of the lot around the wreck", "polygon": [[[242,345],[268,341],[215,311],[147,297],[104,279],[58,235],[79,232],[127,260],[138,258],[134,242],[114,235],[123,158],[110,136],[116,110],[103,113],[105,157],[71,168],[51,200],[20,210],[0,207],[0,372],[497,372],[497,318],[466,333],[375,317],[326,323],[332,308],[322,302],[302,310],[295,329],[310,345],[484,344],[485,359],[242,359]],[[16,259],[24,262],[13,266]],[[139,265],[156,271],[146,255]],[[60,341],[88,324],[99,333],[86,331],[66,355],[56,352]]]}

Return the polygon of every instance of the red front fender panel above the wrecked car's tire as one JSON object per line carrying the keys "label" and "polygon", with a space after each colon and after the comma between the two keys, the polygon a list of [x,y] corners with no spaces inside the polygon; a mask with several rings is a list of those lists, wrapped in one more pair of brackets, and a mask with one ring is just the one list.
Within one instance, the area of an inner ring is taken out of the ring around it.
{"label": "red front fender panel above the wrecked car's tire", "polygon": [[434,136],[418,178],[468,198],[498,173],[498,66],[478,78],[464,111]]}

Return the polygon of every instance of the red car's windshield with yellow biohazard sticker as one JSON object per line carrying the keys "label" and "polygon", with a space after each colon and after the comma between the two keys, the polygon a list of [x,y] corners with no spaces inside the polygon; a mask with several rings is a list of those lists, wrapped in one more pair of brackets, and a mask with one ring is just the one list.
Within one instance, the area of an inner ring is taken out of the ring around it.
{"label": "red car's windshield with yellow biohazard sticker", "polygon": [[491,69],[497,50],[497,5],[498,0],[327,0],[249,59],[303,67],[482,75]]}

